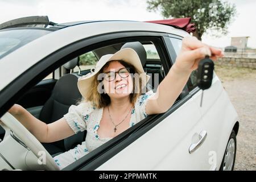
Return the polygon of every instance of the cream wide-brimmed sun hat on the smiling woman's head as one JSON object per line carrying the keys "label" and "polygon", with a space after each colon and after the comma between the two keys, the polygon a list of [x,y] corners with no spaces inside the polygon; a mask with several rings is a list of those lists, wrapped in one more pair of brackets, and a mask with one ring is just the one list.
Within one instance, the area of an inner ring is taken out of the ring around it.
{"label": "cream wide-brimmed sun hat on the smiling woman's head", "polygon": [[94,80],[94,77],[97,75],[97,73],[101,70],[101,68],[104,67],[106,63],[113,60],[122,60],[126,63],[133,65],[137,69],[139,77],[141,77],[142,89],[144,88],[144,86],[146,86],[148,80],[150,79],[150,76],[146,75],[146,73],[144,72],[141,60],[139,59],[137,52],[131,48],[123,48],[120,51],[115,52],[114,54],[102,56],[101,59],[98,60],[96,67],[90,69],[90,73],[79,78],[77,86],[82,97],[85,98],[86,94],[90,92],[92,81]]}

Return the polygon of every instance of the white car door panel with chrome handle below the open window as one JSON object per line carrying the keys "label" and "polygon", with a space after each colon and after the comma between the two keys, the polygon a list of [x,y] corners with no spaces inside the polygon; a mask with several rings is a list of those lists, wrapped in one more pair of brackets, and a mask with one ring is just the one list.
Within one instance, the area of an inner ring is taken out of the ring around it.
{"label": "white car door panel with chrome handle below the open window", "polygon": [[[180,40],[181,41],[181,40]],[[164,43],[175,60],[178,47],[165,37]],[[190,81],[190,80],[189,80]],[[208,170],[207,131],[200,112],[201,92],[188,93],[185,86],[181,100],[155,118],[147,133],[135,140],[98,170]]]}

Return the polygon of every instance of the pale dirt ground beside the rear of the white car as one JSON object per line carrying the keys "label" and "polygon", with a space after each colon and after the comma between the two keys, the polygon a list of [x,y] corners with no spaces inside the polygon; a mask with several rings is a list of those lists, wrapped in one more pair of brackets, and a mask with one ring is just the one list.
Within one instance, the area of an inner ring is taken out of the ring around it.
{"label": "pale dirt ground beside the rear of the white car", "polygon": [[234,170],[256,170],[256,69],[215,67],[240,117]]}

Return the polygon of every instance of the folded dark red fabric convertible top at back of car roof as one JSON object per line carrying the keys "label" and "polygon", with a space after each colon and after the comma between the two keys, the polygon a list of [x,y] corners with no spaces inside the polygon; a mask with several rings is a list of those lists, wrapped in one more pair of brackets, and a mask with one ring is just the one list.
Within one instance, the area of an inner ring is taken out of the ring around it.
{"label": "folded dark red fabric convertible top at back of car roof", "polygon": [[180,28],[188,33],[196,31],[195,23],[190,23],[191,18],[175,18],[175,19],[154,20],[154,21],[147,21],[147,22],[164,24],[164,25]]}

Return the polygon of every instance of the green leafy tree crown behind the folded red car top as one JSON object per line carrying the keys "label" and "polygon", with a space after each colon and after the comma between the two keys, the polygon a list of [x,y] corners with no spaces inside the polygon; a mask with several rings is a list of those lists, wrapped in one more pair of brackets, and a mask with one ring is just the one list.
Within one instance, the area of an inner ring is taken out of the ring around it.
{"label": "green leafy tree crown behind the folded red car top", "polygon": [[235,5],[220,0],[147,0],[147,5],[147,10],[160,10],[164,18],[191,17],[199,39],[209,29],[226,35],[236,15]]}

